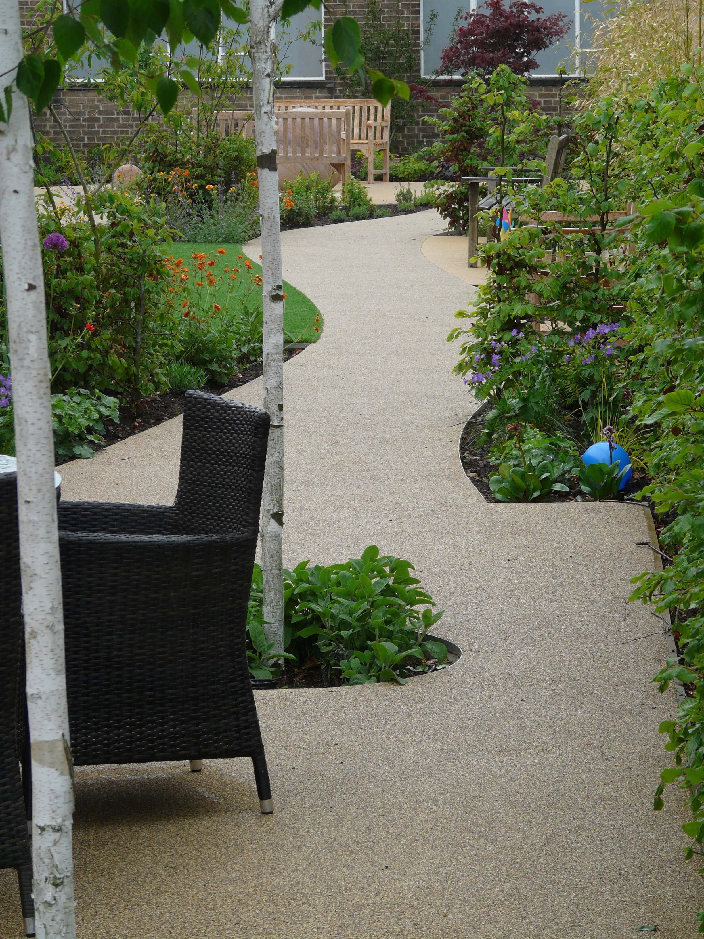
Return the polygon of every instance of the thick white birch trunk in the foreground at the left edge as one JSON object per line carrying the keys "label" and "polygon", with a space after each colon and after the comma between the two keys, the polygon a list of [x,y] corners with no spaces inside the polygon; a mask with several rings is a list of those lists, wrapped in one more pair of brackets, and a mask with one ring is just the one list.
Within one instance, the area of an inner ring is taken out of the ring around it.
{"label": "thick white birch trunk in the foreground at the left edge", "polygon": [[[23,56],[18,0],[0,0],[0,72]],[[5,85],[12,74],[6,75]],[[0,241],[18,460],[27,704],[32,737],[34,896],[39,939],[73,939],[73,785],[54,490],[44,272],[28,104],[0,124]]]}

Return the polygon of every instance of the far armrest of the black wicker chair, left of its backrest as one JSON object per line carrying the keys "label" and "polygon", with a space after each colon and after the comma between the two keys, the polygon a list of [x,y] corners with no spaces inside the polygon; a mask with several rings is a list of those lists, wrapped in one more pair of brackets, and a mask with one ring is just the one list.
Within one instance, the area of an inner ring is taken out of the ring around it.
{"label": "far armrest of the black wicker chair, left of its backrest", "polygon": [[172,531],[173,517],[170,505],[67,501],[58,505],[59,531],[161,535]]}

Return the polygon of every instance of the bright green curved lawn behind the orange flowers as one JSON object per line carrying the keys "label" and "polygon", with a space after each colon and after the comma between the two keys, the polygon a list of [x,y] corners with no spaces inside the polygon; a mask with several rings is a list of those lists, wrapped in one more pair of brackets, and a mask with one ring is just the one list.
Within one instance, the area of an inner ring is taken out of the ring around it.
{"label": "bright green curved lawn behind the orange flowers", "polygon": [[[220,247],[224,248],[225,254],[217,253]],[[243,277],[246,273],[243,263],[237,258],[237,254],[243,254],[245,258],[247,254],[242,251],[242,246],[239,244],[196,244],[191,241],[178,241],[174,244],[173,253],[176,259],[179,257],[183,258],[184,265],[189,268],[191,272],[191,284],[195,279],[192,277],[195,262],[193,262],[191,254],[207,254],[208,259],[216,259],[215,265],[209,268],[209,270],[214,271],[216,277],[223,274],[222,282],[215,288],[213,295],[213,300],[216,303],[220,303],[222,307],[225,306],[227,300],[228,282],[232,283],[230,281],[230,275],[223,273],[223,268],[237,267],[240,269],[240,274],[237,275],[237,283],[233,285],[234,288],[230,300],[231,306],[237,290],[240,289],[240,285],[247,283]],[[260,265],[255,263],[254,258],[251,260],[253,262],[253,273],[261,274],[262,269]],[[259,287],[258,290],[259,296],[261,297],[262,288]],[[320,332],[316,332],[314,327],[317,326],[319,331],[323,330],[323,317],[320,316],[320,311],[312,300],[309,300],[305,294],[302,294],[300,290],[297,290],[295,286],[288,284],[286,281],[283,282],[283,292],[286,295],[285,306],[283,308],[283,329],[290,336],[289,341],[314,343],[320,335]],[[315,321],[316,317],[320,317],[319,322]]]}

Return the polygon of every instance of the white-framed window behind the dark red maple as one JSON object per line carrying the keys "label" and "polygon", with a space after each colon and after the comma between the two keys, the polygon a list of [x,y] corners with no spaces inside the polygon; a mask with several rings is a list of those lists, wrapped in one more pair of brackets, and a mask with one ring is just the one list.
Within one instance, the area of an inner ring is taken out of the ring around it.
{"label": "white-framed window behind the dark red maple", "polygon": [[[584,74],[588,67],[591,40],[595,26],[604,19],[607,0],[536,0],[543,8],[541,15],[564,13],[568,32],[549,49],[537,54],[535,78],[555,76],[560,67],[568,75]],[[440,68],[442,51],[450,42],[454,29],[461,25],[467,11],[481,8],[481,0],[421,0],[422,74],[431,78]]]}

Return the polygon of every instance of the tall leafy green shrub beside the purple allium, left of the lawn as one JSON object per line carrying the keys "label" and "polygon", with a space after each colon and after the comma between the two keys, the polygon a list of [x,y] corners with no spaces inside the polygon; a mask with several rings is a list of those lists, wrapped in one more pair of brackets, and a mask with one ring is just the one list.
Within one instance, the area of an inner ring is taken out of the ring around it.
{"label": "tall leafy green shrub beside the purple allium, left of the lawn", "polygon": [[[75,211],[38,213],[42,243],[61,245],[42,251],[52,389],[111,390],[135,401],[166,388],[175,351],[171,231],[154,200],[107,190],[93,202],[95,232],[82,198]],[[7,336],[3,296],[0,285],[0,345]]]}

